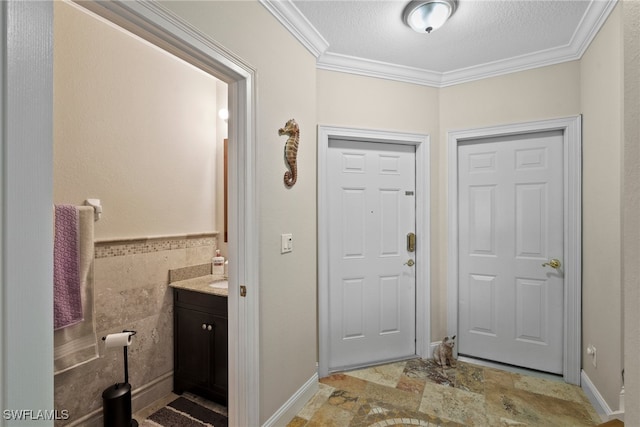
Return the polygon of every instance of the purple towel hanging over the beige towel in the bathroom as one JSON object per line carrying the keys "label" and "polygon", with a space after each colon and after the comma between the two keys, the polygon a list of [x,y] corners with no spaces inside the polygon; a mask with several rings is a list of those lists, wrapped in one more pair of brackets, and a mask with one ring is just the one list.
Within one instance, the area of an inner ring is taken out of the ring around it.
{"label": "purple towel hanging over the beige towel in the bathroom", "polygon": [[53,243],[54,329],[71,326],[82,320],[78,226],[78,210],[75,206],[56,206]]}

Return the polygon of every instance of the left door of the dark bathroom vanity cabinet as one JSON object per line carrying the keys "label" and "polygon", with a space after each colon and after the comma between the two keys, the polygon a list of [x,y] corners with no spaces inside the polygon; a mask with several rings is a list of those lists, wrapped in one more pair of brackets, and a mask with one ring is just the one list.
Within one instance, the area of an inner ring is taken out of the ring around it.
{"label": "left door of the dark bathroom vanity cabinet", "polygon": [[209,383],[211,332],[207,326],[211,323],[210,314],[175,307],[174,389],[178,394]]}

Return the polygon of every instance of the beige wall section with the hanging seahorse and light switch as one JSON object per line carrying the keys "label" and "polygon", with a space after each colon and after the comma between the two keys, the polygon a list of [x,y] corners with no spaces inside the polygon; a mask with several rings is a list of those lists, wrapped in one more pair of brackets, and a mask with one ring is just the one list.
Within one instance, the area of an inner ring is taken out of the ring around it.
{"label": "beige wall section with the hanging seahorse and light switch", "polygon": [[[257,70],[257,194],[260,221],[260,421],[316,372],[315,58],[256,1],[166,2]],[[278,129],[300,125],[298,182],[284,187]],[[280,254],[280,234],[293,234]]]}

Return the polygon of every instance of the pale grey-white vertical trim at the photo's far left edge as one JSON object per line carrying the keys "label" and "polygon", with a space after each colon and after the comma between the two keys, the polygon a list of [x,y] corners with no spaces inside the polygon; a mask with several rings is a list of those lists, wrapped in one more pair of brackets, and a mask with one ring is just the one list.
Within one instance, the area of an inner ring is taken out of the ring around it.
{"label": "pale grey-white vertical trim at the photo's far left edge", "polygon": [[[53,4],[11,0],[2,2],[0,9],[0,407],[50,410],[54,409]],[[0,425],[17,424],[21,423],[0,419]]]}

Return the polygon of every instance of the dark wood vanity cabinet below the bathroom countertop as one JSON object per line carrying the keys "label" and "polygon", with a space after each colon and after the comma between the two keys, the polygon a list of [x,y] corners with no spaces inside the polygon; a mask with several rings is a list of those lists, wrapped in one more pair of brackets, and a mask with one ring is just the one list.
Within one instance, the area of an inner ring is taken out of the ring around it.
{"label": "dark wood vanity cabinet below the bathroom countertop", "polygon": [[173,390],[227,405],[227,298],[173,291]]}

